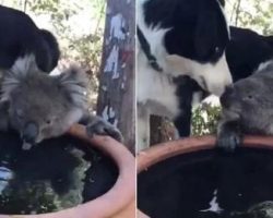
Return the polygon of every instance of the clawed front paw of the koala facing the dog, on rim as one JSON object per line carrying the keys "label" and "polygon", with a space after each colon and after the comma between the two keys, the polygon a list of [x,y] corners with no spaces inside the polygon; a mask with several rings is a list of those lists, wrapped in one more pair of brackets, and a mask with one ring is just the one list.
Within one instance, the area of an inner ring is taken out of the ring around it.
{"label": "clawed front paw of the koala facing the dog, on rim", "polygon": [[234,130],[222,131],[217,136],[217,146],[225,152],[234,152],[241,144],[241,136]]}

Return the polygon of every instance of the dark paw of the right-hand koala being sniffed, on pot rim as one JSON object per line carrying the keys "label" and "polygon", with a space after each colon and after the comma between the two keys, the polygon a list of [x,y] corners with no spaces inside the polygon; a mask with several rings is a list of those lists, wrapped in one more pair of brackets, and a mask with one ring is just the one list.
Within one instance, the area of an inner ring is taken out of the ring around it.
{"label": "dark paw of the right-hand koala being sniffed, on pot rim", "polygon": [[241,134],[233,123],[224,124],[217,134],[217,146],[224,152],[234,152],[241,144]]}

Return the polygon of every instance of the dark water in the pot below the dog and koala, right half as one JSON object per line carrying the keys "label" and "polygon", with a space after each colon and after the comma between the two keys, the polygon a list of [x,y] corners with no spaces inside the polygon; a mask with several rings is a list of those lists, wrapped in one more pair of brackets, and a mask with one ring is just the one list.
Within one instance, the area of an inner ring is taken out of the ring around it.
{"label": "dark water in the pot below the dog and koala, right half", "polygon": [[152,218],[252,218],[247,210],[265,201],[273,201],[273,152],[268,149],[179,155],[138,177],[138,207]]}

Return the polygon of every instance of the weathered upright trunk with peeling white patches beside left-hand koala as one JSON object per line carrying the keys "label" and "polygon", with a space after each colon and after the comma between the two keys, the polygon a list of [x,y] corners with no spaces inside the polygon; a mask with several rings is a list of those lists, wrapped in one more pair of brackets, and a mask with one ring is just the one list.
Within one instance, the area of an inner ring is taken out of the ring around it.
{"label": "weathered upright trunk with peeling white patches beside left-hand koala", "polygon": [[134,153],[134,0],[108,0],[97,113],[119,128]]}

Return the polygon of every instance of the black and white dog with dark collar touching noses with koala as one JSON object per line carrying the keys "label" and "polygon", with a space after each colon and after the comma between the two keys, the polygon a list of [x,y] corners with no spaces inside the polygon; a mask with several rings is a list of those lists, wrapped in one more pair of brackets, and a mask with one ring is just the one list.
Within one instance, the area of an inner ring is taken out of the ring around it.
{"label": "black and white dog with dark collar touching noses with koala", "polygon": [[176,120],[183,112],[178,84],[185,81],[177,76],[218,96],[232,83],[223,7],[219,0],[136,1],[139,149],[150,145],[151,114]]}

